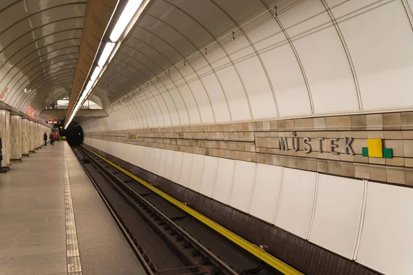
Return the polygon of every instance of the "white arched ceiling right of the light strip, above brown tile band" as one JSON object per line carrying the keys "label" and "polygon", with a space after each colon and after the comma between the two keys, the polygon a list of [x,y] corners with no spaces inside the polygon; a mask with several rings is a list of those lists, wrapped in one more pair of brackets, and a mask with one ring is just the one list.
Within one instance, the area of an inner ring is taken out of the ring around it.
{"label": "white arched ceiling right of the light strip, above brown tile band", "polygon": [[152,0],[94,89],[111,103],[96,126],[413,108],[412,5]]}

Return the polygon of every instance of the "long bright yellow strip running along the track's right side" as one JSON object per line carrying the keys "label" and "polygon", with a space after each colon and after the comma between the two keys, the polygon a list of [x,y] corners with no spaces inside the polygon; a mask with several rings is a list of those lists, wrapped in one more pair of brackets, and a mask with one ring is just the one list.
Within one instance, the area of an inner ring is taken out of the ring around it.
{"label": "long bright yellow strip running along the track's right side", "polygon": [[258,247],[257,245],[250,243],[249,241],[246,241],[246,239],[242,238],[241,236],[238,236],[237,234],[231,232],[230,230],[224,228],[224,226],[220,225],[219,223],[215,223],[215,221],[212,221],[211,219],[205,217],[203,214],[200,214],[199,212],[193,210],[192,208],[188,207],[181,201],[178,201],[178,199],[174,199],[173,197],[167,195],[167,193],[162,192],[158,188],[152,186],[151,184],[148,184],[146,181],[143,179],[140,179],[139,177],[136,177],[136,175],[129,173],[127,170],[121,168],[120,166],[117,166],[113,162],[111,162],[108,159],[105,159],[105,157],[102,157],[98,153],[95,153],[94,151],[90,150],[89,148],[86,148],[85,146],[82,145],[83,148],[85,148],[87,151],[93,153],[97,157],[100,157],[100,159],[103,159],[105,162],[108,164],[114,166],[116,169],[122,171],[125,173],[125,175],[128,175],[129,177],[135,179],[138,181],[140,184],[145,186],[146,188],[149,188],[153,192],[156,192],[156,194],[160,195],[164,199],[167,199],[167,201],[173,203],[174,205],[178,206],[188,214],[191,214],[195,219],[198,219],[205,225],[208,225],[210,228],[213,230],[220,232],[223,236],[225,236],[227,239],[233,241],[237,245],[240,245],[240,247],[244,248],[244,250],[250,252],[251,254],[257,256],[259,259],[262,259],[262,261],[268,263],[268,265],[271,265],[274,267],[276,270],[279,270],[279,272],[282,272],[283,274],[288,274],[288,275],[297,275],[297,274],[303,274],[296,270],[294,267],[291,267],[290,265],[284,263],[283,261],[275,258],[275,256],[269,254],[268,252],[265,252],[262,248]]}

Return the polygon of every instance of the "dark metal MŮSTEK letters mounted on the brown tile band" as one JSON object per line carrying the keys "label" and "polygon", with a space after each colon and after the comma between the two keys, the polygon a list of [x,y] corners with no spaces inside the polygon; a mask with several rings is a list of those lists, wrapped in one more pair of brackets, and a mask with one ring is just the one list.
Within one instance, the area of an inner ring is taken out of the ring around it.
{"label": "dark metal M\u016eSTEK letters mounted on the brown tile band", "polygon": [[[290,148],[288,148],[288,139],[291,139],[291,145],[293,148],[291,148],[291,150],[297,152],[299,150],[299,144],[300,144],[300,139],[299,137],[297,137],[297,134],[295,132],[293,132],[293,137],[278,137],[278,149],[279,150],[284,150],[284,151],[288,151],[290,150]],[[330,151],[324,151],[323,149],[323,145],[322,142],[323,140],[327,140],[327,138],[325,137],[315,137],[315,140],[317,140],[318,142],[318,152],[319,153],[332,153],[334,155],[339,155],[339,152],[335,151],[336,148],[339,147],[339,144],[337,144],[337,142],[339,141],[339,139],[337,137],[330,137],[328,138],[330,141],[328,142],[328,149]],[[353,142],[354,138],[353,137],[344,137],[344,152],[346,153],[346,155],[354,155],[354,150],[351,146],[352,142]],[[304,146],[304,152],[306,153],[311,153],[311,151],[313,151],[313,146],[309,143],[311,141],[310,137],[304,137],[302,139],[302,145]]]}

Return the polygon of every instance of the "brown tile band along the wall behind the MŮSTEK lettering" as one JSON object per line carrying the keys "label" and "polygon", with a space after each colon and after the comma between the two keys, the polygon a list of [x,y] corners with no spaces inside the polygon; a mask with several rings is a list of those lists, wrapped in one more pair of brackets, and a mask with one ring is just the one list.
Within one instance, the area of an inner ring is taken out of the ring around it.
{"label": "brown tile band along the wall behind the M\u016eSTEK lettering", "polygon": [[[413,112],[135,129],[85,136],[413,186]],[[310,153],[305,151],[305,137],[309,138]],[[346,138],[353,139],[354,154],[346,149]],[[393,158],[364,157],[362,148],[368,146],[368,138],[382,139],[383,148],[392,148]],[[286,142],[288,150],[279,148],[280,140]],[[293,140],[298,140],[297,147]],[[331,153],[331,144],[338,154]]]}

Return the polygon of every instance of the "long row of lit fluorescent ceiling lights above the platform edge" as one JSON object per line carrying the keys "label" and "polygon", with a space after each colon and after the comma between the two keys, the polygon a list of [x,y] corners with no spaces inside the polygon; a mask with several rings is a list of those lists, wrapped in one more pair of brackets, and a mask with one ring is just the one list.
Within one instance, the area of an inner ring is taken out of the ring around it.
{"label": "long row of lit fluorescent ceiling lights above the platform edge", "polygon": [[[95,60],[98,57],[98,64],[89,70],[89,75],[90,75],[90,72],[93,71],[92,76],[90,76],[89,82],[87,83],[86,87],[85,87],[86,81],[83,84],[84,89],[81,93],[80,98],[78,98],[76,105],[74,109],[72,110],[72,113],[70,114],[69,120],[67,120],[66,122],[65,129],[67,129],[67,126],[69,126],[70,122],[72,122],[74,116],[76,115],[78,110],[82,107],[83,102],[85,101],[87,96],[89,96],[91,91],[94,89],[96,83],[98,83],[100,76],[102,76],[103,72],[105,72],[107,65],[109,65],[114,54],[116,54],[120,46],[120,43],[122,43],[123,39],[125,39],[125,36],[129,33],[132,26],[136,23],[140,14],[145,9],[149,1],[150,0],[145,0],[145,1],[144,0],[129,0],[128,3],[125,5],[125,8],[123,9],[122,14],[120,14],[120,17],[118,21],[116,22],[109,36],[110,41],[107,41],[106,43],[102,41],[100,43],[98,52],[102,47],[103,47],[103,52],[100,54],[99,57],[95,56]],[[111,19],[109,20],[107,28],[112,23],[112,19],[113,19],[113,14],[112,14]],[[108,30],[106,29],[105,34],[107,33],[107,31]]]}

